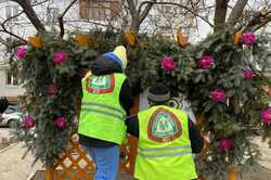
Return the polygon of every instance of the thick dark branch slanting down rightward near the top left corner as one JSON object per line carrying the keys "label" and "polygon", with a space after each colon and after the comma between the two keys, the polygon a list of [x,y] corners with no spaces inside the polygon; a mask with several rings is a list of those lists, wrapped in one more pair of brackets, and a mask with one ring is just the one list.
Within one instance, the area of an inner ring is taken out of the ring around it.
{"label": "thick dark branch slanting down rightward near the top left corner", "polygon": [[34,11],[30,0],[11,0],[11,1],[18,3],[23,8],[24,13],[39,33],[46,31],[46,27],[38,18],[36,12]]}

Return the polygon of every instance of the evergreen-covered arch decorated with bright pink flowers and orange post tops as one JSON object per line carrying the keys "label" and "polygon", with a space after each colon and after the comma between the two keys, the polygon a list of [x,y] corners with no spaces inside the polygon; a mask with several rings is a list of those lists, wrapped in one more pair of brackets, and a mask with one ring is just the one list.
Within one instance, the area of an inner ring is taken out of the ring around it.
{"label": "evergreen-covered arch decorated with bright pink flowers and orange post tops", "polygon": [[134,97],[159,81],[173,97],[182,93],[191,102],[206,139],[196,157],[199,175],[225,179],[227,167],[250,165],[259,156],[251,136],[260,133],[271,145],[271,81],[264,76],[271,53],[264,39],[230,30],[197,44],[181,34],[177,39],[113,31],[30,37],[12,63],[26,89],[24,120],[16,126],[20,140],[37,160],[53,166],[77,131],[81,78],[98,55],[126,44]]}

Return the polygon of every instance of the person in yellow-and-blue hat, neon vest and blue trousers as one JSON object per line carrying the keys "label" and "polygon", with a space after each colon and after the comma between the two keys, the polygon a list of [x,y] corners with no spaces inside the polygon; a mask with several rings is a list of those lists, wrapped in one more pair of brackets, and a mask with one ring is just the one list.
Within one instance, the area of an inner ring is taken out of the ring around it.
{"label": "person in yellow-and-blue hat, neon vest and blue trousers", "polygon": [[126,49],[120,46],[98,57],[82,79],[78,126],[80,144],[95,164],[95,180],[116,180],[119,145],[126,137],[126,116],[133,105]]}

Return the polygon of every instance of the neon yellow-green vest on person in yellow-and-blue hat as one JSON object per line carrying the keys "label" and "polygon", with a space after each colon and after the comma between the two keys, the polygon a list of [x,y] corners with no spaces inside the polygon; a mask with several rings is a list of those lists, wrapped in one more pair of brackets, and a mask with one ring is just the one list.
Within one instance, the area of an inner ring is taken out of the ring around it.
{"label": "neon yellow-green vest on person in yellow-and-blue hat", "polygon": [[87,76],[82,79],[82,102],[78,133],[121,144],[126,138],[126,112],[119,103],[124,74]]}

